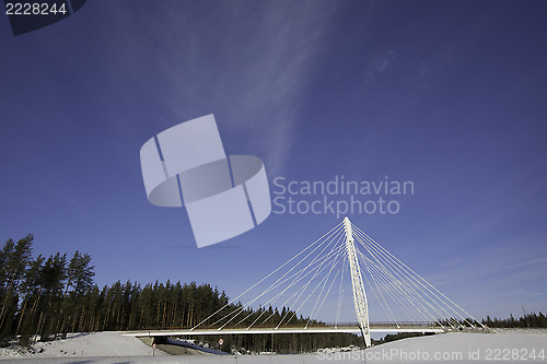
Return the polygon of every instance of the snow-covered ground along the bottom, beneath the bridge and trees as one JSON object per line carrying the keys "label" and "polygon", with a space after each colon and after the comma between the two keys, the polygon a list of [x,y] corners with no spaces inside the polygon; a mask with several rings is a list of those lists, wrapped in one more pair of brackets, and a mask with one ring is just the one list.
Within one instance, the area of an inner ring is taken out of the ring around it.
{"label": "snow-covered ground along the bottom, beneath the bridge and trees", "polygon": [[[502,330],[497,333],[455,332],[410,338],[366,351],[325,350],[295,355],[167,355],[139,339],[116,332],[74,333],[66,340],[34,345],[35,354],[0,349],[1,363],[547,363],[547,330]],[[42,352],[39,352],[42,351]]]}

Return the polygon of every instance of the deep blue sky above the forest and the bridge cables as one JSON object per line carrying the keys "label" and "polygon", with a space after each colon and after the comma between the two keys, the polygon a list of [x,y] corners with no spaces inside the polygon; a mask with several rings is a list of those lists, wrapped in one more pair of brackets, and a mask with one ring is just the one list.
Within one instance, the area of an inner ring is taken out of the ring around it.
{"label": "deep blue sky above the forest and the bridge cables", "polygon": [[100,285],[235,296],[340,219],[271,214],[197,249],[184,209],[148,202],[139,150],[214,114],[226,153],[259,156],[270,181],[411,180],[397,214],[350,219],[476,317],[545,312],[546,16],[542,1],[92,1],[18,37],[0,16],[0,238],[89,253]]}

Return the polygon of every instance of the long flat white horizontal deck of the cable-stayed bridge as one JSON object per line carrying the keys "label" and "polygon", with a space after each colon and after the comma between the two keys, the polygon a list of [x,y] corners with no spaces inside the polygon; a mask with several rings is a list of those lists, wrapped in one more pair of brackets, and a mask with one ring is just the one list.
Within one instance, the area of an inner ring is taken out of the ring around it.
{"label": "long flat white horizontal deck of the cable-stayed bridge", "polygon": [[[347,327],[310,327],[304,328],[251,328],[251,329],[196,329],[196,330],[150,330],[150,331],[123,331],[121,334],[129,337],[177,337],[177,336],[201,336],[201,334],[249,334],[249,333],[329,333],[329,332],[350,332],[360,333],[361,330],[356,326]],[[444,330],[440,327],[371,327],[373,332],[432,332],[441,333]]]}

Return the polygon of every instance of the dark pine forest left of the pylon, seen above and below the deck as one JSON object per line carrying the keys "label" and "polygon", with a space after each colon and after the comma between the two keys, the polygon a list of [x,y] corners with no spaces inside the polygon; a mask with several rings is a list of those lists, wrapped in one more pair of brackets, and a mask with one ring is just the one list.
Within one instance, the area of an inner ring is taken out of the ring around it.
{"label": "dark pine forest left of the pylon, seen above and below the deck", "polygon": [[[211,315],[205,326],[243,309],[241,303],[229,304],[224,292],[196,282],[167,281],[141,286],[137,282],[117,281],[101,289],[93,281],[95,272],[90,255],[75,251],[71,258],[60,253],[33,257],[33,235],[27,235],[16,243],[9,239],[0,250],[0,343],[18,339],[26,344],[30,340],[51,340],[67,332],[191,328]],[[270,327],[277,326],[282,317],[290,317],[288,325],[307,322],[307,318],[287,307],[245,308],[240,317],[245,317],[242,325],[251,325],[259,317],[268,318],[264,326]],[[213,337],[198,339],[211,345],[218,342]],[[224,350],[238,351],[303,352],[360,343],[360,338],[349,333],[223,339]]]}

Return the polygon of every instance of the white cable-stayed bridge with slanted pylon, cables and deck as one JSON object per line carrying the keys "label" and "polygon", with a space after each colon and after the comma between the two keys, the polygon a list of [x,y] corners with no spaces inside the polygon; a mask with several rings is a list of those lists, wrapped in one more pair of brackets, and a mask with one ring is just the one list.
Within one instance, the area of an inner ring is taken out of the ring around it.
{"label": "white cable-stayed bridge with slanted pylon, cables and deck", "polygon": [[[371,322],[371,312],[384,322]],[[350,313],[357,322],[342,324]],[[371,332],[486,327],[346,218],[194,327],[125,334],[354,332],[370,347]]]}

